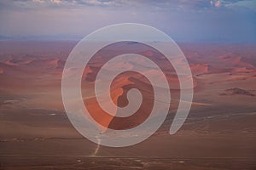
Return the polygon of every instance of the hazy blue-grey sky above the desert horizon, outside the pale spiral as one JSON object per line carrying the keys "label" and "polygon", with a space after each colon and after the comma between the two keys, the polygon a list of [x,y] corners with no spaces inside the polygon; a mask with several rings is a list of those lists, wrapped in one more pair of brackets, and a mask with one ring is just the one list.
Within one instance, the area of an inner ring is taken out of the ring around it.
{"label": "hazy blue-grey sky above the desert horizon, outside the pale spiral", "polygon": [[0,0],[0,38],[81,39],[141,23],[179,42],[256,42],[256,0]]}

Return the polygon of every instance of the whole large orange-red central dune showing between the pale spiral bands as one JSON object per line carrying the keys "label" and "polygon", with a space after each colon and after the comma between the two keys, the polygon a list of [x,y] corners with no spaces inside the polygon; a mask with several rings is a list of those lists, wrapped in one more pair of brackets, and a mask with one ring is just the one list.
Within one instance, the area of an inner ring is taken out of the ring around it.
{"label": "whole large orange-red central dune showing between the pale spiral bands", "polygon": [[110,88],[113,103],[119,107],[125,107],[129,104],[127,92],[131,88],[137,88],[143,95],[143,102],[136,113],[127,117],[115,117],[103,111],[96,98],[84,99],[84,105],[90,112],[90,116],[103,127],[119,130],[137,127],[137,125],[144,122],[154,105],[154,93],[151,93],[154,92],[154,89],[146,77],[143,77],[143,79],[147,84],[138,81],[138,78],[141,77],[143,76],[137,72],[124,72],[113,80]]}

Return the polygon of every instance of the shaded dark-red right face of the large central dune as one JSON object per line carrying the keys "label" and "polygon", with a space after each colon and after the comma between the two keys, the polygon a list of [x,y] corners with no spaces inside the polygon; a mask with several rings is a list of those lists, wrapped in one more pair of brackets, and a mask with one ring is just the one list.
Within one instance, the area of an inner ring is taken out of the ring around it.
{"label": "shaded dark-red right face of the large central dune", "polygon": [[[122,81],[122,84],[118,84],[117,87],[115,87],[115,82],[119,79],[122,80],[122,77],[125,77],[126,82]],[[143,81],[140,81],[142,79]],[[137,127],[143,123],[152,112],[154,105],[154,89],[147,77],[144,77],[142,74],[134,71],[126,71],[113,80],[111,89],[114,90],[119,88],[123,89],[122,94],[119,94],[119,98],[117,99],[117,105],[119,107],[129,105],[127,92],[132,88],[137,88],[141,92],[143,102],[142,105],[140,105],[140,108],[131,116],[113,117],[113,120],[109,123],[108,127],[113,129],[128,129]],[[114,99],[115,95],[113,93],[111,94],[112,98]]]}

